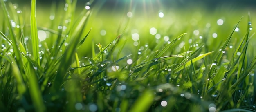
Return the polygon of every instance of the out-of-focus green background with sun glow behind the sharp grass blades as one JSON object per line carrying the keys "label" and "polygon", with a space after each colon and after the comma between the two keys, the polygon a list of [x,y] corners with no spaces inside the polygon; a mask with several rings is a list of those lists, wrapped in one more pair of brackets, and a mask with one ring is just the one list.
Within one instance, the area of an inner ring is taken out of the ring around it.
{"label": "out-of-focus green background with sun glow behind the sharp grass blades", "polygon": [[[10,1],[22,11],[25,24],[29,25],[30,0]],[[255,0],[94,0],[92,3],[88,3],[88,0],[78,0],[76,17],[86,6],[89,6],[92,13],[84,34],[92,30],[85,44],[79,49],[79,53],[88,57],[91,57],[92,45],[96,47],[95,44],[101,43],[106,46],[119,34],[122,34],[122,41],[127,40],[127,43],[134,44],[135,49],[146,44],[155,46],[158,40],[156,34],[160,38],[168,36],[171,41],[176,36],[187,32],[185,40],[188,42],[191,38],[203,36],[207,38],[209,43],[207,46],[214,49],[212,42],[225,41],[242,16],[244,18],[239,24],[240,31],[234,37],[238,40],[246,32],[244,29],[248,25],[248,13],[251,13],[252,28],[255,26],[256,17]],[[59,26],[65,27],[65,23],[62,22],[66,16],[65,7],[68,7],[65,5],[65,0],[37,0],[38,27],[56,31]],[[223,20],[222,25],[217,24],[220,19]],[[157,33],[151,35],[150,29],[153,27],[157,29]],[[194,31],[199,33],[193,35]],[[132,34],[135,33],[139,34],[139,41],[132,40]],[[217,40],[208,38],[212,37],[213,33],[218,34]],[[51,46],[54,43],[52,40],[47,33],[44,42]],[[251,45],[255,44],[251,43]],[[124,49],[127,54],[130,54],[128,50],[130,45],[125,46]],[[179,47],[173,49],[178,49],[176,54],[180,52]]]}

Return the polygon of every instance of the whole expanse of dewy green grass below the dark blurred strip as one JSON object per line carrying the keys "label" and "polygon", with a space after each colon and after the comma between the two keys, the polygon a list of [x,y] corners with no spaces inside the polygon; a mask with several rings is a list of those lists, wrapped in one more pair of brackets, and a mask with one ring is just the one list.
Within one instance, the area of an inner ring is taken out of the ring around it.
{"label": "whole expanse of dewy green grass below the dark blurred strip", "polygon": [[251,14],[106,14],[66,0],[47,15],[36,0],[30,13],[0,1],[1,112],[256,112]]}

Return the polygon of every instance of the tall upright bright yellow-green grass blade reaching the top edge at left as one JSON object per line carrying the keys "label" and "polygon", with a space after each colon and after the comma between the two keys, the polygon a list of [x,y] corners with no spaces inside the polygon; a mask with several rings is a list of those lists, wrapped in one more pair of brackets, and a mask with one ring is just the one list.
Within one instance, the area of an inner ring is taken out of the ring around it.
{"label": "tall upright bright yellow-green grass blade reaching the top edge at left", "polygon": [[33,57],[34,57],[34,60],[36,60],[36,63],[40,65],[40,59],[39,59],[39,53],[38,53],[39,52],[38,34],[37,34],[37,25],[36,25],[36,0],[31,0],[30,25],[31,25]]}

